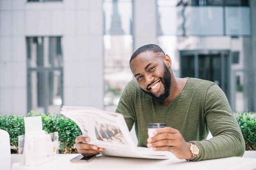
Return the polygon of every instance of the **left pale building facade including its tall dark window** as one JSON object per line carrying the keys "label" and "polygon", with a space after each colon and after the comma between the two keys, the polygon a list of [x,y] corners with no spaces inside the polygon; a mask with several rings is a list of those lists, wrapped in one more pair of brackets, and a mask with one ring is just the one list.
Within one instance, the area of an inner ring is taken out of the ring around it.
{"label": "left pale building facade including its tall dark window", "polygon": [[103,109],[101,0],[1,0],[0,39],[1,114]]}

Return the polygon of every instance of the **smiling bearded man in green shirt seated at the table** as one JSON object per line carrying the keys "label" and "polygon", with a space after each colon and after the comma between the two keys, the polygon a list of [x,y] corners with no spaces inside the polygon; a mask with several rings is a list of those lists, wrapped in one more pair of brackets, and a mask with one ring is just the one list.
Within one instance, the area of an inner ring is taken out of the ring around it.
{"label": "smiling bearded man in green shirt seated at the table", "polygon": [[[242,156],[245,142],[225,94],[213,82],[176,78],[171,58],[157,45],[137,49],[130,59],[135,79],[126,85],[116,112],[122,113],[129,130],[135,124],[138,146],[171,151],[177,158],[199,161]],[[166,123],[148,138],[149,123]],[[211,131],[213,138],[205,140]],[[82,144],[83,155],[104,150]]]}

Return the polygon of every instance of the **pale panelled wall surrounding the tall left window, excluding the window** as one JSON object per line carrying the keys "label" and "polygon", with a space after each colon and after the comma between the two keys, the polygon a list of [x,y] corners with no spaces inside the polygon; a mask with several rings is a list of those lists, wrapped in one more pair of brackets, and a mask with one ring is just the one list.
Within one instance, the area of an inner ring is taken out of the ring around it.
{"label": "pale panelled wall surrounding the tall left window, excluding the window", "polygon": [[0,0],[0,114],[27,111],[27,36],[62,36],[64,104],[103,108],[101,0]]}

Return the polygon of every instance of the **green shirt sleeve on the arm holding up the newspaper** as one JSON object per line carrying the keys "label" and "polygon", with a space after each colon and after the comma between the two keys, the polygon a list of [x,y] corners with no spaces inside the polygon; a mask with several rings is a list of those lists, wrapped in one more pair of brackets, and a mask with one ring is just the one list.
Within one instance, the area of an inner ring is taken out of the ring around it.
{"label": "green shirt sleeve on the arm holding up the newspaper", "polygon": [[130,104],[131,101],[128,99],[126,88],[121,94],[121,98],[119,100],[119,103],[117,105],[117,109],[115,112],[121,113],[124,115],[124,119],[126,121],[126,124],[128,126],[129,131],[132,129],[132,126],[135,122],[135,114],[133,111],[133,107]]}

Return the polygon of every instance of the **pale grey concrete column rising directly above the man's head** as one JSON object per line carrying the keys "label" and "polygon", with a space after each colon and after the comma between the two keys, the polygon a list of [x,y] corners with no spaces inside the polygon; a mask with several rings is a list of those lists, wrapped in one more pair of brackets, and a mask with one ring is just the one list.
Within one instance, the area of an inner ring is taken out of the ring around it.
{"label": "pale grey concrete column rising directly above the man's head", "polygon": [[133,50],[157,43],[157,1],[133,0]]}

